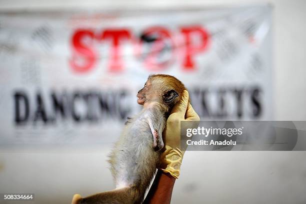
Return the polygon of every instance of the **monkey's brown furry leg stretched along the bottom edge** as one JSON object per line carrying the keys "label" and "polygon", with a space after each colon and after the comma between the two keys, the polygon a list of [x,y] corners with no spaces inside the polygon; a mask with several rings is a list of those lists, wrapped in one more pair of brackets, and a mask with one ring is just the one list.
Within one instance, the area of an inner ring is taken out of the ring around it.
{"label": "monkey's brown furry leg stretched along the bottom edge", "polygon": [[141,203],[131,187],[124,187],[90,195],[77,200],[78,204],[132,204]]}

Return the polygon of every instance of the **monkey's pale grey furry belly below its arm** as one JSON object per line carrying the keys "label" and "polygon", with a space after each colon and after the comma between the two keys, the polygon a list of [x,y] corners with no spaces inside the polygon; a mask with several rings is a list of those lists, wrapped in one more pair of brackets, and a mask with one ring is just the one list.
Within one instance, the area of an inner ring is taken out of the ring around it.
{"label": "monkey's pale grey furry belly below its arm", "polygon": [[152,142],[152,134],[147,130],[138,138],[127,135],[122,142],[115,145],[109,156],[109,163],[116,188],[148,187],[156,172],[161,152],[153,150]]}

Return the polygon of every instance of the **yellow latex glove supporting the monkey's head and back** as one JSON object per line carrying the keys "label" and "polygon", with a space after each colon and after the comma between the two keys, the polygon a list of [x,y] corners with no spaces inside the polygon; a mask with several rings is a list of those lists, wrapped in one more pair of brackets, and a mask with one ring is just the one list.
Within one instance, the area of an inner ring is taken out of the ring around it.
{"label": "yellow latex glove supporting the monkey's head and back", "polygon": [[159,168],[174,178],[179,176],[180,165],[186,148],[180,146],[180,121],[200,120],[188,100],[189,94],[185,90],[182,93],[182,99],[172,108],[162,133],[165,150],[161,154]]}

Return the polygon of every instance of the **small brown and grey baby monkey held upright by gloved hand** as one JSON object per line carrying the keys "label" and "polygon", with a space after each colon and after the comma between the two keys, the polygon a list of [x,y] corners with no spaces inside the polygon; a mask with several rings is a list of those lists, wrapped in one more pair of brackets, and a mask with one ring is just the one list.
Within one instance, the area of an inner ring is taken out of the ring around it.
{"label": "small brown and grey baby monkey held upright by gloved hand", "polygon": [[126,121],[109,155],[116,188],[81,198],[78,203],[143,201],[159,164],[166,119],[184,90],[184,85],[173,76],[157,74],[148,77],[137,94],[137,103],[143,105],[143,109]]}

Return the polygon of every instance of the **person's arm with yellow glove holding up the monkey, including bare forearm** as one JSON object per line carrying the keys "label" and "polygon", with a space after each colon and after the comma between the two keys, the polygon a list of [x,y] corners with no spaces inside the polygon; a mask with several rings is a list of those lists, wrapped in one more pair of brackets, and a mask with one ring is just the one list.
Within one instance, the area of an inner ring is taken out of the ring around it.
{"label": "person's arm with yellow glove holding up the monkey, including bare forearm", "polygon": [[185,147],[180,146],[180,121],[198,120],[199,117],[189,102],[188,92],[184,91],[182,99],[173,107],[167,119],[166,128],[163,131],[165,148],[160,158],[161,164],[143,203],[170,203],[185,151]]}

